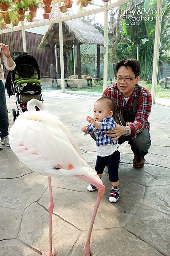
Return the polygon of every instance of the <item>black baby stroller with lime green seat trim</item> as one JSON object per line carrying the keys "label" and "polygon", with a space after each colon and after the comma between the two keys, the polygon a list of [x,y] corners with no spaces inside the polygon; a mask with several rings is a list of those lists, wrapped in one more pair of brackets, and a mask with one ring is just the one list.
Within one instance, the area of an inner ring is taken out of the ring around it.
{"label": "black baby stroller with lime green seat trim", "polygon": [[[17,112],[15,108],[12,109],[14,122],[20,113],[27,111],[26,104],[30,99],[38,99],[43,103],[40,69],[36,59],[27,53],[23,53],[15,59],[15,64],[15,69],[10,71],[11,95],[15,95],[17,105]],[[36,110],[39,109],[36,107]]]}

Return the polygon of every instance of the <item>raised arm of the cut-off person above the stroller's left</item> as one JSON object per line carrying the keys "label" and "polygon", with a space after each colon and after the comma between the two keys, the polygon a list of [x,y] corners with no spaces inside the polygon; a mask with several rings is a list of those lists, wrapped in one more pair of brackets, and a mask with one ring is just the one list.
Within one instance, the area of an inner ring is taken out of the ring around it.
{"label": "raised arm of the cut-off person above the stroller's left", "polygon": [[9,51],[8,45],[5,44],[0,44],[2,46],[2,50],[0,51],[1,53],[1,58],[3,63],[6,66],[7,70],[14,70],[15,68],[15,62],[13,61],[11,57],[11,53]]}

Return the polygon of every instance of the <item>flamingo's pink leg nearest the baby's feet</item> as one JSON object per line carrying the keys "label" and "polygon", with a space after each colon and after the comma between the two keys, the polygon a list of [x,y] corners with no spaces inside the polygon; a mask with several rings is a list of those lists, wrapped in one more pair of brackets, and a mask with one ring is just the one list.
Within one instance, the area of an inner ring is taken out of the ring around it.
{"label": "flamingo's pink leg nearest the baby's feet", "polygon": [[94,181],[94,180],[91,180],[90,178],[88,178],[84,175],[75,175],[75,176],[78,177],[79,179],[85,180],[88,183],[96,186],[96,188],[98,189],[97,200],[96,200],[94,211],[93,211],[93,214],[91,217],[91,223],[90,223],[90,227],[88,230],[88,237],[87,237],[87,240],[85,242],[85,247],[84,247],[85,256],[92,256],[92,251],[91,251],[91,247],[90,247],[91,233],[92,233],[92,229],[93,229],[93,225],[94,225],[94,220],[96,218],[96,213],[99,208],[99,204],[102,200],[102,196],[105,194],[105,186]]}

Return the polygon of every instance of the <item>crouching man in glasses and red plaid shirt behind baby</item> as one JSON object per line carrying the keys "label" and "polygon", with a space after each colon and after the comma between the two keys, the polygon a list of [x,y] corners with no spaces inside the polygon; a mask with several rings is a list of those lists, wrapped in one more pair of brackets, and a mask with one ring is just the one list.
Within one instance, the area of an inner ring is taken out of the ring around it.
{"label": "crouching man in glasses and red plaid shirt behind baby", "polygon": [[[103,96],[113,99],[117,110],[123,108],[127,116],[132,116],[133,102],[135,97],[138,97],[140,63],[135,59],[123,59],[117,63],[116,73],[117,82],[109,85]],[[144,166],[144,156],[148,153],[151,145],[150,124],[147,120],[151,105],[151,94],[142,87],[135,118],[129,118],[126,120],[126,126],[117,125],[108,133],[108,136],[113,137],[112,140],[119,139],[119,144],[122,144],[121,141],[128,141],[134,154],[133,166],[136,168]]]}

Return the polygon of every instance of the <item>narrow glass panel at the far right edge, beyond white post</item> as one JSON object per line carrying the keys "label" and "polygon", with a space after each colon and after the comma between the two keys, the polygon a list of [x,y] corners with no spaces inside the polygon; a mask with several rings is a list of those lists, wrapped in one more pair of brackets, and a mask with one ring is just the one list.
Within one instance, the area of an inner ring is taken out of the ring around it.
{"label": "narrow glass panel at the far right edge, beyond white post", "polygon": [[167,8],[168,1],[164,0],[155,102],[170,106],[170,16]]}

